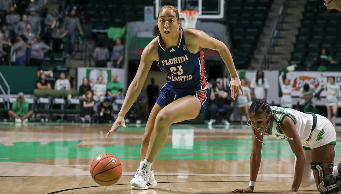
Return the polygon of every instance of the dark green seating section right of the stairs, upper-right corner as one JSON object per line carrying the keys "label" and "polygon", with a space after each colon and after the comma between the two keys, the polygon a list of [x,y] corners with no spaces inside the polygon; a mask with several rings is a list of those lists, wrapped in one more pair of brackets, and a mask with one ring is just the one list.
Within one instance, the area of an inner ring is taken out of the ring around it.
{"label": "dark green seating section right of the stairs, upper-right corner", "polygon": [[[322,48],[329,51],[334,61],[341,61],[340,15],[331,15],[320,0],[308,0],[301,27],[297,35],[291,63],[299,64],[299,70],[305,70],[306,64],[312,64],[311,70],[317,70],[314,58]],[[327,71],[340,71],[340,63],[326,66]]]}

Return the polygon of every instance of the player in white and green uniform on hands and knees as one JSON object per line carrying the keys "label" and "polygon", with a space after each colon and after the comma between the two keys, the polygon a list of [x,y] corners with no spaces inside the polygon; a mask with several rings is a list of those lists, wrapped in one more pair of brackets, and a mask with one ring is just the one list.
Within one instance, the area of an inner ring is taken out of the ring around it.
{"label": "player in white and green uniform on hands and knees", "polygon": [[265,100],[252,103],[249,110],[254,133],[250,158],[250,186],[232,193],[253,193],[261,165],[263,135],[278,140],[288,140],[295,158],[295,175],[292,188],[283,194],[297,194],[299,187],[316,183],[321,193],[339,192],[341,189],[341,163],[333,165],[336,132],[324,116],[302,113],[298,110],[270,106]]}

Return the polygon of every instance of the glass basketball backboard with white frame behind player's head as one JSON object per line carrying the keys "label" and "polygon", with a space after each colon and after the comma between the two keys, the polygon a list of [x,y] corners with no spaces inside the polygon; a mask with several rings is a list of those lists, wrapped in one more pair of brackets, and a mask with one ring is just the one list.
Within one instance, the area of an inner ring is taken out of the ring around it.
{"label": "glass basketball backboard with white frame behind player's head", "polygon": [[198,19],[224,18],[224,0],[155,0],[155,18],[163,5],[174,5],[183,19],[183,10],[199,11]]}

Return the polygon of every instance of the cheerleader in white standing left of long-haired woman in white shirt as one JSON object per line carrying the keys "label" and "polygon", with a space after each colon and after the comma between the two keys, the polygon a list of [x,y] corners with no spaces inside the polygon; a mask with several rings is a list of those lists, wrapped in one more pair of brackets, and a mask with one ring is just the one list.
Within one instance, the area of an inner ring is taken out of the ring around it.
{"label": "cheerleader in white standing left of long-haired woman in white shirt", "polygon": [[243,118],[243,109],[246,114],[246,120],[249,119],[249,103],[251,104],[251,92],[250,88],[245,85],[245,79],[240,79],[241,86],[244,91],[244,95],[238,96],[237,99],[237,107],[239,109],[239,120],[240,124],[243,124],[242,118]]}

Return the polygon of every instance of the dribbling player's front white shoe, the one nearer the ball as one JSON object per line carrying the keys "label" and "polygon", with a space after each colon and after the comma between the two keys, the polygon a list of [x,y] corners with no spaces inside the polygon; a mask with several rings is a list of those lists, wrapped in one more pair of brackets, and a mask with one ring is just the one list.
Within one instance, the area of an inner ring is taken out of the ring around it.
{"label": "dribbling player's front white shoe, the one nearer the ball", "polygon": [[139,188],[140,190],[148,189],[147,183],[151,173],[150,167],[151,165],[141,161],[134,178],[130,181],[130,185]]}

